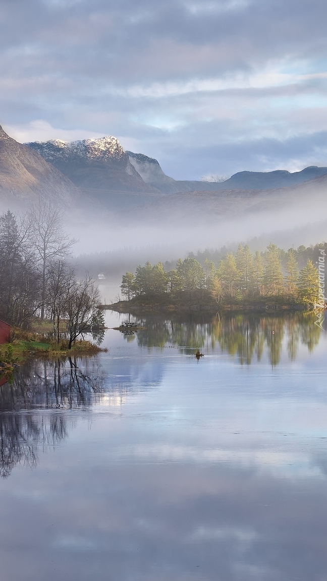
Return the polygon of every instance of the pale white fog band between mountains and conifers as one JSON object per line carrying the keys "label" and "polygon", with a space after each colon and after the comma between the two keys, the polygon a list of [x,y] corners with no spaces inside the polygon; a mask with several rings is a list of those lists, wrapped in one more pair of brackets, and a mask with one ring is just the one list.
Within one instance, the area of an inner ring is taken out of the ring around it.
{"label": "pale white fog band between mountains and conifers", "polygon": [[[102,298],[113,302],[126,271],[138,264],[171,263],[198,250],[234,250],[241,242],[264,250],[269,242],[287,250],[325,241],[327,199],[325,183],[302,184],[266,192],[193,192],[166,195],[133,210],[99,211],[96,207],[63,214],[67,231],[77,239],[73,263],[99,282]],[[126,196],[127,198],[127,196]],[[134,202],[134,198],[133,198]],[[125,202],[126,203],[126,202]]]}

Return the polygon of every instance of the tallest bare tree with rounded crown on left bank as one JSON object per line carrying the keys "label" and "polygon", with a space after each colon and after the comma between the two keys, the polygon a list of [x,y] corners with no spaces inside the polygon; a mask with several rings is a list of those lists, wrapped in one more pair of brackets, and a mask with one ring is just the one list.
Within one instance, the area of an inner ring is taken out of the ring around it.
{"label": "tallest bare tree with rounded crown on left bank", "polygon": [[29,221],[30,243],[41,264],[41,319],[44,319],[47,266],[55,258],[67,256],[76,241],[63,231],[61,213],[51,202],[44,205],[38,200],[29,211]]}

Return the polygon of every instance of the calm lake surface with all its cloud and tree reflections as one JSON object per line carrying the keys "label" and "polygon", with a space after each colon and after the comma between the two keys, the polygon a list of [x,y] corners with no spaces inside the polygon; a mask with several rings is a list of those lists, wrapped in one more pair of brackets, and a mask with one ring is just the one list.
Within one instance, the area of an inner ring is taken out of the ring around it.
{"label": "calm lake surface with all its cloud and tree reflections", "polygon": [[326,581],[314,321],[143,320],[107,331],[108,353],[18,370],[0,388],[1,581]]}

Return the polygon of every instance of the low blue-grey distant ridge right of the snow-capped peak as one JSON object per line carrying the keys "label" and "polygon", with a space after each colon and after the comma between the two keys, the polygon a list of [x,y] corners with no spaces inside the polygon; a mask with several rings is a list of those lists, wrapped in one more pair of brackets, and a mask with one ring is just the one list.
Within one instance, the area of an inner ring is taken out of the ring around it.
{"label": "low blue-grey distant ridge right of the snow-capped peak", "polygon": [[223,182],[173,180],[163,173],[157,159],[131,151],[126,153],[143,180],[163,193],[286,188],[327,174],[327,167],[310,166],[294,173],[287,170],[239,171]]}

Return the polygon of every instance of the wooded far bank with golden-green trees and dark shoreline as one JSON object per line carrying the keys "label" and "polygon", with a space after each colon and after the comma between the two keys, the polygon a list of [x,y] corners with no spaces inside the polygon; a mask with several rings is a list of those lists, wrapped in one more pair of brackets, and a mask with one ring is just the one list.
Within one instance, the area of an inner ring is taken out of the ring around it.
{"label": "wooded far bank with golden-green trees and dark shoreline", "polygon": [[[310,253],[308,251],[311,251]],[[304,266],[303,255],[307,255]],[[311,254],[311,256],[310,256]],[[308,257],[310,256],[310,257]],[[324,275],[317,268],[325,260],[325,244],[285,252],[270,243],[264,252],[251,253],[239,245],[215,264],[195,256],[179,259],[165,270],[161,262],[126,272],[120,289],[130,312],[138,310],[324,309]],[[118,310],[123,305],[118,303]]]}

